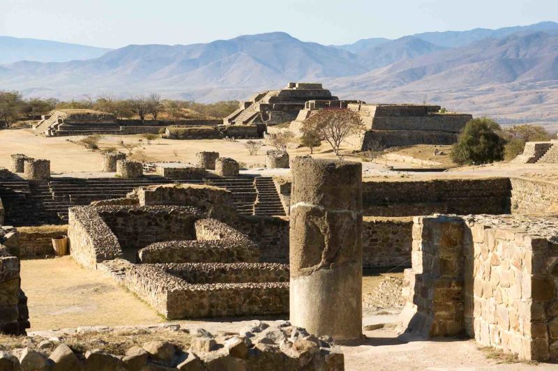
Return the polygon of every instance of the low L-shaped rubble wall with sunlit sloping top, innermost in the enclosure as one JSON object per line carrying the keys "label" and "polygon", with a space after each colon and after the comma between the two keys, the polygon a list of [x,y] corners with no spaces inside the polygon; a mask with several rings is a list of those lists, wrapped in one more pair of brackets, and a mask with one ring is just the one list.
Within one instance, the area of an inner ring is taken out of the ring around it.
{"label": "low L-shaped rubble wall with sunlit sloping top, innermost in the enclosure", "polygon": [[153,243],[138,252],[142,264],[259,262],[257,245],[215,219],[195,222],[195,241]]}

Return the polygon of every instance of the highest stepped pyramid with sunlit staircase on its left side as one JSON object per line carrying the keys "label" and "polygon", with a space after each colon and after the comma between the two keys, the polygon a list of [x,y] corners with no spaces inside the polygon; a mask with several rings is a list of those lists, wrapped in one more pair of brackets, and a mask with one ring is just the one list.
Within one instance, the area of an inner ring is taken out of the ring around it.
{"label": "highest stepped pyramid with sunlit staircase on its left side", "polygon": [[268,126],[287,123],[296,119],[308,100],[338,100],[322,84],[289,82],[284,89],[257,93],[241,101],[239,109],[223,119],[225,125]]}

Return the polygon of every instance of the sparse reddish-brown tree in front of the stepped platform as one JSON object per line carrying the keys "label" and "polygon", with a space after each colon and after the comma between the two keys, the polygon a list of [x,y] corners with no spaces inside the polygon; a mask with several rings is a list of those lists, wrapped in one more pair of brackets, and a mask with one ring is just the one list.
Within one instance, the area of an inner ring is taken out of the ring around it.
{"label": "sparse reddish-brown tree in front of the stepped platform", "polygon": [[335,156],[339,156],[339,147],[351,135],[364,130],[364,124],[358,113],[349,109],[322,109],[304,121],[303,134],[312,130],[320,139],[329,143]]}

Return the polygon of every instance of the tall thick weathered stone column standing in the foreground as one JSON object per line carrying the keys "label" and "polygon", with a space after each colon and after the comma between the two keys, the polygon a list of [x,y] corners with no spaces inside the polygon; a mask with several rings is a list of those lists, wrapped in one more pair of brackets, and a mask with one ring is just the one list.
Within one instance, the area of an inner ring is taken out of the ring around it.
{"label": "tall thick weathered stone column standing in the foreground", "polygon": [[362,339],[362,165],[296,158],[290,321],[338,342]]}

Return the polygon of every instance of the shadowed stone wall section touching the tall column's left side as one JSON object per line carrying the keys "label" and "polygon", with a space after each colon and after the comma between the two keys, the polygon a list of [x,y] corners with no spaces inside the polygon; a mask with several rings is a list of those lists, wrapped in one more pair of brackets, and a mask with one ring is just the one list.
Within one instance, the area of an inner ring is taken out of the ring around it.
{"label": "shadowed stone wall section touching the tall column's left side", "polygon": [[288,218],[239,215],[234,227],[257,243],[260,262],[289,262]]}

